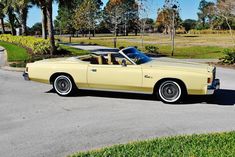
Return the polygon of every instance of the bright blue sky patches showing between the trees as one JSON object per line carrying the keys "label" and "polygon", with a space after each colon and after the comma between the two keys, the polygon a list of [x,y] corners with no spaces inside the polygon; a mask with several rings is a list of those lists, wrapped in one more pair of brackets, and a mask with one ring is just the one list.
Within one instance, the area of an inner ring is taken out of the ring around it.
{"label": "bright blue sky patches showing between the trees", "polygon": [[[108,0],[102,0],[105,4]],[[179,0],[180,3],[180,15],[183,20],[185,19],[197,19],[197,12],[200,0]],[[149,17],[156,19],[158,8],[162,8],[164,0],[147,0],[147,7],[149,8]],[[53,17],[58,15],[58,5],[53,4]],[[33,26],[35,23],[41,21],[41,12],[37,7],[33,7],[29,11],[29,18],[27,25],[29,27]]]}

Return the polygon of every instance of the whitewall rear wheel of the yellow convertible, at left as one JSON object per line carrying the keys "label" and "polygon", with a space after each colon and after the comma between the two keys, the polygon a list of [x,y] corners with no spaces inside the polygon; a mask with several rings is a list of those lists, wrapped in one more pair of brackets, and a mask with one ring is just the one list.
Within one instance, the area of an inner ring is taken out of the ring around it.
{"label": "whitewall rear wheel of the yellow convertible, at left", "polygon": [[76,89],[71,77],[65,75],[57,76],[53,82],[53,87],[60,96],[70,96]]}

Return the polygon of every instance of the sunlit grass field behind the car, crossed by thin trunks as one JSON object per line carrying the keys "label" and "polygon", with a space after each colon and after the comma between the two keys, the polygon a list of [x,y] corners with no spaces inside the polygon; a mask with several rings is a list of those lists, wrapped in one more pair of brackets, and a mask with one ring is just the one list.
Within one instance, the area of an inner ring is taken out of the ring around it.
{"label": "sunlit grass field behind the car, crossed by thin trunks", "polygon": [[[68,38],[60,38],[63,42],[68,42]],[[118,37],[117,47],[137,46],[145,51],[145,46],[153,45],[159,48],[161,54],[170,56],[172,47],[167,36],[145,36],[144,43],[141,43],[140,36]],[[72,38],[73,43],[97,44],[113,47],[113,37],[94,37],[89,40],[85,37]],[[159,44],[153,44],[156,42]],[[218,59],[224,56],[224,49],[231,48],[229,35],[177,35],[174,58],[199,58]]]}

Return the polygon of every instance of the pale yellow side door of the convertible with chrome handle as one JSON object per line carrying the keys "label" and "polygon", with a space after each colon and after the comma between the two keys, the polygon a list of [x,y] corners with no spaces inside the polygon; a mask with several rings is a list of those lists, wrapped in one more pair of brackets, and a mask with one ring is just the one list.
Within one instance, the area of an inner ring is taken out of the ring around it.
{"label": "pale yellow side door of the convertible with chrome handle", "polygon": [[142,86],[140,65],[98,65],[88,66],[89,88],[138,91]]}

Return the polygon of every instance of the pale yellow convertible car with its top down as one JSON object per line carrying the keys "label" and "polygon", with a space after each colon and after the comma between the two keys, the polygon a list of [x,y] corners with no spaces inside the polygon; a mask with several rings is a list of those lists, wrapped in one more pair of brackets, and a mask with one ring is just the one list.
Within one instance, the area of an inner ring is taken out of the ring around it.
{"label": "pale yellow convertible car with its top down", "polygon": [[27,64],[26,80],[52,84],[60,96],[77,89],[154,94],[165,103],[219,89],[216,68],[178,60],[156,60],[135,48],[118,53],[46,59]]}

